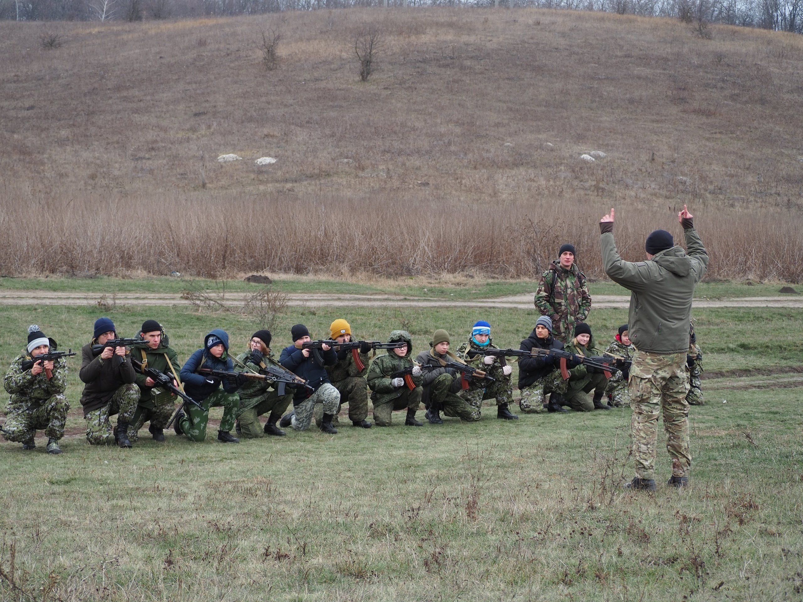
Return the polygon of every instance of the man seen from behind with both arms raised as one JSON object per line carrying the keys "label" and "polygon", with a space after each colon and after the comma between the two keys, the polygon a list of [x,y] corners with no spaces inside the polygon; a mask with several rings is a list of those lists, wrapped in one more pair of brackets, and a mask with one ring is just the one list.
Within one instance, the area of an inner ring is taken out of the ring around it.
{"label": "man seen from behind with both arms raised", "polygon": [[689,405],[686,352],[689,347],[691,299],[705,274],[708,254],[686,205],[678,214],[687,251],[666,230],[646,239],[647,260],[626,262],[613,242],[613,209],[600,220],[602,264],[613,282],[630,291],[630,340],[636,352],[630,368],[630,422],[636,477],[631,489],[655,489],[658,413],[663,410],[666,451],[672,458],[668,484],[687,486]]}

